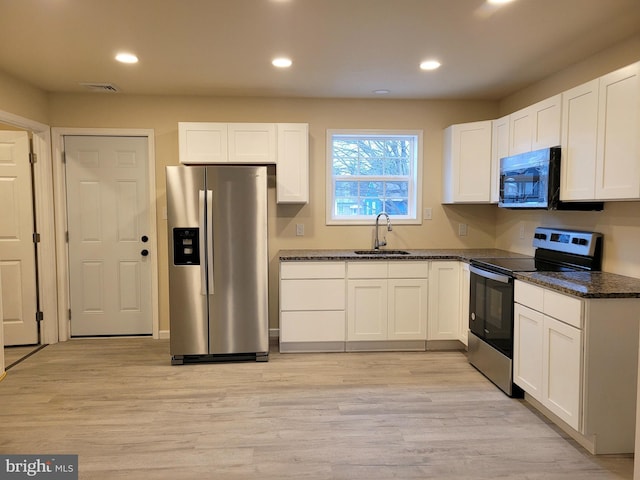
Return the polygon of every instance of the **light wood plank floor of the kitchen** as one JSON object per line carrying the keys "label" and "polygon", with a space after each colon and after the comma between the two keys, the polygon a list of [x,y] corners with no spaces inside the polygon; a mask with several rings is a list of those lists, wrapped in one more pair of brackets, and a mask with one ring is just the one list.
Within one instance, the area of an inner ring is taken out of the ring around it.
{"label": "light wood plank floor of the kitchen", "polygon": [[50,345],[0,382],[0,452],[81,479],[631,479],[462,352],[279,354],[171,366],[168,342]]}

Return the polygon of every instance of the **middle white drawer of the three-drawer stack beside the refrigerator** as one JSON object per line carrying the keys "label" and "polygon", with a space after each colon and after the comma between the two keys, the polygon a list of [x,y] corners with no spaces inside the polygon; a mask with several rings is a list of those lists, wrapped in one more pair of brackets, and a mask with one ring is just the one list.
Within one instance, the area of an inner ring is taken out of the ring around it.
{"label": "middle white drawer of the three-drawer stack beside the refrigerator", "polygon": [[344,310],[345,296],[344,280],[280,282],[280,310]]}

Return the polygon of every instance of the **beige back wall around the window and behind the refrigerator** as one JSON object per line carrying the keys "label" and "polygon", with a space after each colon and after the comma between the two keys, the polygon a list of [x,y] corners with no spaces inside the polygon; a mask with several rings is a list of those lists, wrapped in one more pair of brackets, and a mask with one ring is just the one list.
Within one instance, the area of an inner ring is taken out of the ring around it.
{"label": "beige back wall around the window and behind the refrigerator", "polygon": [[[369,248],[371,226],[325,225],[325,139],[329,128],[419,129],[424,132],[423,206],[433,208],[433,220],[422,225],[397,225],[387,234],[390,248],[492,247],[496,208],[440,205],[442,130],[452,123],[494,118],[496,102],[394,101],[332,99],[264,99],[214,97],[154,97],[115,94],[53,94],[51,125],[55,127],[153,128],[156,135],[158,194],[160,329],[168,329],[166,165],[178,162],[179,121],[309,123],[310,185],[308,205],[276,205],[269,190],[270,324],[278,325],[278,262],[281,249]],[[458,237],[458,223],[468,224],[468,236]],[[295,236],[295,224],[305,235]]]}

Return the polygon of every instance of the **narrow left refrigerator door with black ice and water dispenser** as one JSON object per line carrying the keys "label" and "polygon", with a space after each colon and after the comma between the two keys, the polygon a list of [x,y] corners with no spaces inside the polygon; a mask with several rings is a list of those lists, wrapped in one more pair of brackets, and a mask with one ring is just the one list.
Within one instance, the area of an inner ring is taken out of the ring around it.
{"label": "narrow left refrigerator door with black ice and water dispenser", "polygon": [[[207,296],[203,295],[206,285],[203,287],[201,271],[206,256],[204,230],[200,224],[200,192],[205,188],[205,168],[171,166],[166,168],[166,173],[171,355],[206,355],[209,352],[208,305]],[[195,247],[199,249],[197,254],[191,250]]]}

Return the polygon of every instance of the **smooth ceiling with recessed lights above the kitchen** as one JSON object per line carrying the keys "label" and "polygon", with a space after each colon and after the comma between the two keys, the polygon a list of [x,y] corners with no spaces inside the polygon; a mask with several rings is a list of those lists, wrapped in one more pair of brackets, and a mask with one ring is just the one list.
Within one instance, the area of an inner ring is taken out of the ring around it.
{"label": "smooth ceiling with recessed lights above the kitchen", "polygon": [[52,92],[499,99],[637,32],[640,0],[2,0],[0,69]]}

